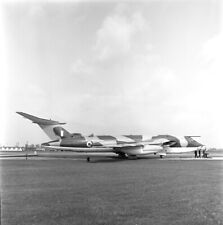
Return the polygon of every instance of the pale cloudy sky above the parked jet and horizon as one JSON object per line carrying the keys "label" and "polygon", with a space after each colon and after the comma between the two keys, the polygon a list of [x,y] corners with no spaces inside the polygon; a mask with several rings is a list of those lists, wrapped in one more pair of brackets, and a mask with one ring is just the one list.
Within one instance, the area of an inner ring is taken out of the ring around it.
{"label": "pale cloudy sky above the parked jet and horizon", "polygon": [[48,141],[22,111],[223,146],[220,1],[9,1],[0,16],[1,145]]}

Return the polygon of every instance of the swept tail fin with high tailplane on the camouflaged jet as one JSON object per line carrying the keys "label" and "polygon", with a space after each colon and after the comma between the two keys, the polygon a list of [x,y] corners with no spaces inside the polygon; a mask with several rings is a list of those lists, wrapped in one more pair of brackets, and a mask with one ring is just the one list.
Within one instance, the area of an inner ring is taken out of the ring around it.
{"label": "swept tail fin with high tailplane on the camouflaged jet", "polygon": [[50,120],[42,119],[23,112],[16,112],[16,113],[18,113],[21,116],[24,116],[26,119],[31,120],[33,123],[38,124],[51,140],[56,140],[59,139],[59,137],[63,138],[71,135],[63,127],[58,126],[64,125],[66,123],[60,123],[58,121],[54,121],[51,119]]}

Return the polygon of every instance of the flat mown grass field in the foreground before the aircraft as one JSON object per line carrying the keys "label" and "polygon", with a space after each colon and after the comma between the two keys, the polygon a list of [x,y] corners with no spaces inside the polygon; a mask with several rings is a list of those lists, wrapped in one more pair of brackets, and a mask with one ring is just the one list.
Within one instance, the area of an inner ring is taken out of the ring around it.
{"label": "flat mown grass field in the foreground before the aircraft", "polygon": [[223,161],[1,161],[2,225],[223,224]]}

